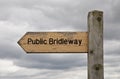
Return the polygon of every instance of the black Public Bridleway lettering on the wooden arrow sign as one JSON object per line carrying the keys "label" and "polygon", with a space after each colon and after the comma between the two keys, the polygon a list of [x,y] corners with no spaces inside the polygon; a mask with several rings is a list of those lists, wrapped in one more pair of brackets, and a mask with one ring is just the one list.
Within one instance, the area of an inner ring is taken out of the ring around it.
{"label": "black Public Bridleway lettering on the wooden arrow sign", "polygon": [[78,45],[82,44],[81,39],[64,39],[64,38],[49,38],[48,40],[40,38],[40,39],[32,39],[28,38],[27,44],[49,44],[49,45]]}

